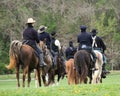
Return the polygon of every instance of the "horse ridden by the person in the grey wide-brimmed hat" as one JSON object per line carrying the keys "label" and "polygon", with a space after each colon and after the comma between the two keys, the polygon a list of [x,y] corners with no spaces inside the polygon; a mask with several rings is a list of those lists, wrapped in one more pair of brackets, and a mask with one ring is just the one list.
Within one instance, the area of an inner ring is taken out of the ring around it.
{"label": "horse ridden by the person in the grey wide-brimmed hat", "polygon": [[[44,58],[44,62],[47,64],[46,67],[44,67],[42,69],[42,80],[43,80],[43,84],[44,86],[49,86],[49,85],[52,85],[54,82],[52,82],[51,80],[51,76],[53,76],[53,65],[52,65],[52,55],[51,55],[51,52],[50,50],[47,48],[46,46],[46,41],[40,41],[39,43],[39,46],[40,48],[42,49],[43,51],[43,58]],[[36,71],[35,71],[36,73]],[[35,76],[35,82],[37,82],[37,77]],[[36,87],[37,87],[37,83],[36,84]]]}

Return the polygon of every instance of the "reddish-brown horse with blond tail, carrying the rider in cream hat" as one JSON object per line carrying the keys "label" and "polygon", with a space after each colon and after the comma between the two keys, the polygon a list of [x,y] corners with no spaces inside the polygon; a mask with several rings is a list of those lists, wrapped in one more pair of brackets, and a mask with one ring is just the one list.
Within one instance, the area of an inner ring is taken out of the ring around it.
{"label": "reddish-brown horse with blond tail, carrying the rider in cream hat", "polygon": [[17,78],[17,86],[20,87],[19,81],[19,70],[22,68],[23,70],[23,78],[22,78],[22,87],[25,87],[25,79],[26,74],[28,75],[28,87],[30,87],[31,81],[31,72],[35,68],[37,70],[37,77],[39,86],[41,86],[40,79],[40,70],[39,70],[39,59],[32,47],[26,44],[22,44],[22,42],[18,40],[14,40],[10,44],[10,63],[6,66],[8,69],[16,69],[16,78]]}

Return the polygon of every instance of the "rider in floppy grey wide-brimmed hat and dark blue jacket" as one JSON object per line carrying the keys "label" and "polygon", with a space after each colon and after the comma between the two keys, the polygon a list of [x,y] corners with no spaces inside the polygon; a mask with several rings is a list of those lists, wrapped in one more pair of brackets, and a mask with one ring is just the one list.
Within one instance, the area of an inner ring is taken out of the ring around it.
{"label": "rider in floppy grey wide-brimmed hat and dark blue jacket", "polygon": [[51,38],[50,38],[50,34],[45,31],[46,29],[47,29],[47,27],[44,26],[44,25],[41,25],[41,26],[39,27],[39,29],[38,29],[39,40],[40,40],[40,41],[46,40],[47,48],[50,50]]}

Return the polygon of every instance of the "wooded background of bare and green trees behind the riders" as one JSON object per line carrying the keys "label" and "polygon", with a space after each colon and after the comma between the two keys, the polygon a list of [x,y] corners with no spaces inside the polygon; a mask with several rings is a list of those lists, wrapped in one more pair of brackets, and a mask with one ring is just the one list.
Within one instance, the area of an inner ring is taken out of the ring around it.
{"label": "wooded background of bare and green trees behind the riders", "polygon": [[57,32],[66,48],[69,40],[77,47],[80,25],[87,31],[96,28],[107,50],[107,69],[120,70],[120,2],[119,0],[0,0],[0,74],[7,70],[9,46],[12,40],[22,41],[22,32],[29,17]]}

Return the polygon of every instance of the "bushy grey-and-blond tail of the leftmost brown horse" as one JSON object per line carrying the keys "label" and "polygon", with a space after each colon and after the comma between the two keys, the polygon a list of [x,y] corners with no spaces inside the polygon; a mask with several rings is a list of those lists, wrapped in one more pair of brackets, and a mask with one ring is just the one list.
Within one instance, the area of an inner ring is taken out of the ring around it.
{"label": "bushy grey-and-blond tail of the leftmost brown horse", "polygon": [[17,60],[19,60],[19,54],[20,54],[20,48],[22,46],[22,42],[18,40],[14,40],[11,42],[10,45],[10,63],[8,66],[6,66],[7,69],[13,69],[16,66]]}

